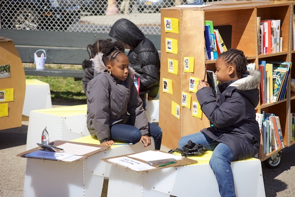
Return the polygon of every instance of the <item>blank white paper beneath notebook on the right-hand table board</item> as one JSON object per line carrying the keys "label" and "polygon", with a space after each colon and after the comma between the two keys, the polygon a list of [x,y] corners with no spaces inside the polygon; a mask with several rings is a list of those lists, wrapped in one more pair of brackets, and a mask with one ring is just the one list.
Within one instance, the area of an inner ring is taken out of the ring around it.
{"label": "blank white paper beneath notebook on the right-hand table board", "polygon": [[137,158],[143,161],[154,161],[154,160],[162,160],[162,159],[169,159],[169,158],[174,158],[176,160],[182,160],[183,157],[178,156],[178,155],[174,155],[174,154],[170,154],[170,153],[163,153],[161,151],[145,151],[145,152],[141,152],[141,153],[136,153],[133,155],[128,155],[128,157],[131,158]]}

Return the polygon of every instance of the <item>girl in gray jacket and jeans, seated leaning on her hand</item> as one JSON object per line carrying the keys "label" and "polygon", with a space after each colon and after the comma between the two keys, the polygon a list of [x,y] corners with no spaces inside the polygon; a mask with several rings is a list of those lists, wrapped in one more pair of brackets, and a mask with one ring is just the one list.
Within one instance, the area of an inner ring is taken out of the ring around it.
{"label": "girl in gray jacket and jeans, seated leaning on her hand", "polygon": [[133,82],[134,72],[121,42],[106,42],[93,58],[94,78],[87,84],[87,127],[102,145],[115,141],[137,143],[145,147],[155,140],[159,150],[162,130],[148,119]]}

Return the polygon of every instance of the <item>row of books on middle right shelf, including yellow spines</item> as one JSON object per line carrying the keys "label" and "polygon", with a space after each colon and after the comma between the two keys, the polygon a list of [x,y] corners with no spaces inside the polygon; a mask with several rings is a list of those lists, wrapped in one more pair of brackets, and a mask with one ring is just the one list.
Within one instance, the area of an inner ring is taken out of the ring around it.
{"label": "row of books on middle right shelf, including yellow spines", "polygon": [[260,94],[262,104],[277,102],[286,97],[291,62],[260,61]]}

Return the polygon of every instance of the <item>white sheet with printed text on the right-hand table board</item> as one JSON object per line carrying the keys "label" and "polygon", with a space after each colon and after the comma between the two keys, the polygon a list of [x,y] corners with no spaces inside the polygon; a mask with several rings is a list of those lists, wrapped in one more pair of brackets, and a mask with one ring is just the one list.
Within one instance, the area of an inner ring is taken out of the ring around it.
{"label": "white sheet with printed text on the right-hand table board", "polygon": [[155,169],[155,167],[149,164],[146,164],[128,157],[117,157],[117,158],[108,159],[108,161],[113,164],[118,164],[118,165],[128,167],[135,171]]}

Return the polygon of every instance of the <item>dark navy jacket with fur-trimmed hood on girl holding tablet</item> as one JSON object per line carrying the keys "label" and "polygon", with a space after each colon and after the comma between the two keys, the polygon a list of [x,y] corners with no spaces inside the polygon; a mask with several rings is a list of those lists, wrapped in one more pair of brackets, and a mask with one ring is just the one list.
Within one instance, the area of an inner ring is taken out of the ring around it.
{"label": "dark navy jacket with fur-trimmed hood on girl holding tablet", "polygon": [[219,84],[217,98],[209,87],[197,92],[201,109],[213,124],[202,132],[228,145],[234,160],[254,157],[259,151],[260,132],[255,107],[259,102],[260,80],[260,71],[254,70],[241,79]]}

